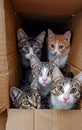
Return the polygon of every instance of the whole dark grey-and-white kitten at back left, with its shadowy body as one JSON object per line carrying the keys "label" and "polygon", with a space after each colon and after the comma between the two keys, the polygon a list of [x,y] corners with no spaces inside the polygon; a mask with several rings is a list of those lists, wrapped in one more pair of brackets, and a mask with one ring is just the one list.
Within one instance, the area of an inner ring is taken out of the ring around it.
{"label": "whole dark grey-and-white kitten at back left, with its shadowy body", "polygon": [[43,42],[45,31],[41,32],[36,38],[29,38],[23,29],[17,31],[18,51],[23,67],[22,78],[18,84],[18,88],[25,89],[32,82],[32,74],[30,68],[30,54],[35,53],[38,58],[42,59]]}

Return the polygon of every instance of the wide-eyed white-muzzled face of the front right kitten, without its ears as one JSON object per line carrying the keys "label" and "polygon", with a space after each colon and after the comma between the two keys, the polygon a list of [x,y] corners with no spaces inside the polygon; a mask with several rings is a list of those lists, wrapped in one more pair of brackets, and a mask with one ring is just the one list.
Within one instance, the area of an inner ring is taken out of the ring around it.
{"label": "wide-eyed white-muzzled face of the front right kitten, without its ears", "polygon": [[69,78],[60,79],[53,84],[51,93],[63,105],[73,105],[80,99],[80,84],[78,81]]}

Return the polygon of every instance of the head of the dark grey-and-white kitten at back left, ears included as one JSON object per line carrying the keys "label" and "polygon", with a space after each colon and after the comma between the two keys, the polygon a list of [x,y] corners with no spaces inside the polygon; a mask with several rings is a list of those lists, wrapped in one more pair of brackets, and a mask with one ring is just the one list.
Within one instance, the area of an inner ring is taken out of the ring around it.
{"label": "head of the dark grey-and-white kitten at back left, ears included", "polygon": [[19,52],[26,59],[30,59],[30,54],[33,53],[41,58],[45,31],[41,32],[36,38],[29,38],[22,29],[18,29],[17,37]]}

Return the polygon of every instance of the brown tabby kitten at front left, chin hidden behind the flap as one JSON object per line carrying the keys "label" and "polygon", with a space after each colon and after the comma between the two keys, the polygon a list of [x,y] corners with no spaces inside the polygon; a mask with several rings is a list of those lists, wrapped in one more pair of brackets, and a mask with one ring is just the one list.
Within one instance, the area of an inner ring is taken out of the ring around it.
{"label": "brown tabby kitten at front left, chin hidden behind the flap", "polygon": [[10,89],[10,97],[15,108],[36,109],[40,108],[41,97],[36,88],[22,91],[16,87]]}

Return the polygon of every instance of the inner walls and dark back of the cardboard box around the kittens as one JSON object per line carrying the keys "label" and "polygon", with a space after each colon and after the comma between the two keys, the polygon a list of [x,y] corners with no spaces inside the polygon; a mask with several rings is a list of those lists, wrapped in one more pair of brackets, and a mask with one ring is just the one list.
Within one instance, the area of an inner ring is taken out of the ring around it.
{"label": "inner walls and dark back of the cardboard box around the kittens", "polygon": [[[39,2],[38,0],[0,0],[0,113],[10,108],[9,88],[17,86],[22,75],[16,39],[16,31],[19,27],[22,27],[29,36],[37,36],[48,28],[62,34],[70,30],[72,47],[68,63],[74,75],[82,71],[82,1],[64,2],[60,6],[61,2],[54,0],[52,3],[49,0],[47,3],[43,0]],[[70,8],[66,10],[68,3]]]}

